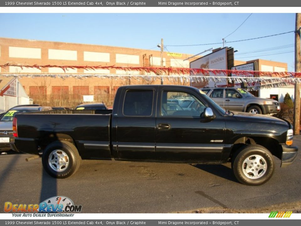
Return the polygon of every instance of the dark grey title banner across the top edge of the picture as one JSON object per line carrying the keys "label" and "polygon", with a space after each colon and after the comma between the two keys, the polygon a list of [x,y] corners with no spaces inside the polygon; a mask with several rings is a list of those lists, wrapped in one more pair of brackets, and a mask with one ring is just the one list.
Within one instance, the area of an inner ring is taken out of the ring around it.
{"label": "dark grey title banner across the top edge of the picture", "polygon": [[142,0],[142,1],[115,1],[115,0],[8,0],[1,1],[0,7],[300,7],[301,1],[296,0]]}

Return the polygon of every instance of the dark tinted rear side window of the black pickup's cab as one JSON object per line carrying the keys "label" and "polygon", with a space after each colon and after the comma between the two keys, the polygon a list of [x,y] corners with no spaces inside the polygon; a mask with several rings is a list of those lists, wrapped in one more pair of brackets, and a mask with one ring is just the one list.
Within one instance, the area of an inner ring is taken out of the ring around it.
{"label": "dark tinted rear side window of the black pickup's cab", "polygon": [[153,110],[153,90],[127,90],[124,97],[125,116],[151,116]]}

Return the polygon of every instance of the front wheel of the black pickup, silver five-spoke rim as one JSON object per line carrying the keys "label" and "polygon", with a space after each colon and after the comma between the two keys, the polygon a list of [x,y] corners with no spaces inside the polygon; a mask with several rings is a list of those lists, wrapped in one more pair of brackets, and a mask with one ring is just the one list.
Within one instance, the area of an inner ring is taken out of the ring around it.
{"label": "front wheel of the black pickup, silver five-spoke rim", "polygon": [[275,163],[272,153],[266,148],[250,144],[234,154],[231,167],[240,183],[256,186],[272,177]]}

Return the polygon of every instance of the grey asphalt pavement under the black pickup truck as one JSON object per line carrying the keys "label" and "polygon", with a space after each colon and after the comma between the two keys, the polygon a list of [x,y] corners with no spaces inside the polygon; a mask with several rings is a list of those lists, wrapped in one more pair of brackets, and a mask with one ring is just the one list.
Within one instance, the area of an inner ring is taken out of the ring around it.
{"label": "grey asphalt pavement under the black pickup truck", "polygon": [[[294,137],[301,147],[301,135]],[[261,186],[240,184],[228,164],[171,164],[83,160],[75,175],[50,177],[41,158],[0,156],[0,205],[38,204],[66,196],[82,213],[171,213],[203,208],[251,209],[301,200],[301,153]],[[0,213],[4,208],[0,207]]]}

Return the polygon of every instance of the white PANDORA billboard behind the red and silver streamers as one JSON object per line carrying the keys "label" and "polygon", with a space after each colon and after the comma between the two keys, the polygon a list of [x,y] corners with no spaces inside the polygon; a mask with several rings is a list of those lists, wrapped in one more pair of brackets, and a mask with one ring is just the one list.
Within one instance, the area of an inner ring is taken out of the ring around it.
{"label": "white PANDORA billboard behind the red and silver streamers", "polygon": [[[195,61],[190,62],[190,68],[202,68],[202,69],[227,69],[227,51],[226,48],[223,48],[219,51],[215,51],[210,53],[206,56],[203,56]],[[194,74],[191,74],[194,75]],[[203,74],[196,74],[198,76],[204,76]],[[225,76],[222,74],[216,74],[209,72],[207,76]],[[207,79],[202,79],[199,82],[192,82],[191,86],[196,88],[203,88],[203,87],[219,87],[226,85],[226,82],[213,82],[208,81]]]}

